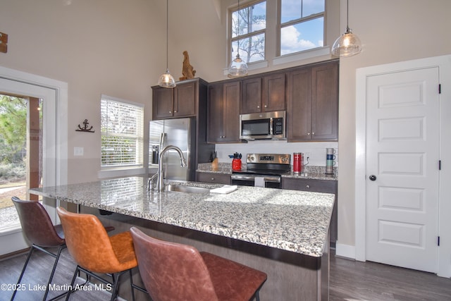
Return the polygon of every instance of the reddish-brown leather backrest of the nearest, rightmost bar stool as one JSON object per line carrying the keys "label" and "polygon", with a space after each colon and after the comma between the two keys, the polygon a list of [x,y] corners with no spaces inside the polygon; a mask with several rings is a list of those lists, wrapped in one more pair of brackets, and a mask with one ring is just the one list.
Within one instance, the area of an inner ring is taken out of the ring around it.
{"label": "reddish-brown leather backrest of the nearest, rightmost bar stool", "polygon": [[144,286],[154,301],[218,300],[199,251],[157,240],[132,227],[133,244]]}

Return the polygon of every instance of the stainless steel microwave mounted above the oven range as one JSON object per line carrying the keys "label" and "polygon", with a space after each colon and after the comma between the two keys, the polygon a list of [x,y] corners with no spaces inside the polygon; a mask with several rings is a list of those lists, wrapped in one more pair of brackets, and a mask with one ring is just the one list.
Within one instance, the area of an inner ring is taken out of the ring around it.
{"label": "stainless steel microwave mounted above the oven range", "polygon": [[285,111],[240,115],[242,140],[284,140],[285,137]]}

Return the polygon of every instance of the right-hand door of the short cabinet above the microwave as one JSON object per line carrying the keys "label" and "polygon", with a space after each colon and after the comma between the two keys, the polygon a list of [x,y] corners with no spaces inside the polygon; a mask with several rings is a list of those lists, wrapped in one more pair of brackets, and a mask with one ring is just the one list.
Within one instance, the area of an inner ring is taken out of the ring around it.
{"label": "right-hand door of the short cabinet above the microwave", "polygon": [[261,111],[285,111],[285,73],[263,78]]}

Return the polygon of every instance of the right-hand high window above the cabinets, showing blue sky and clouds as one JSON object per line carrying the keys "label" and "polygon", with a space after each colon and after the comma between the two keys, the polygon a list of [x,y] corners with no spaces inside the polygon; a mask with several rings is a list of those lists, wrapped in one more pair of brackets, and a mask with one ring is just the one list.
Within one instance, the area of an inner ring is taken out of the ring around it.
{"label": "right-hand high window above the cabinets, showing blue sky and clouds", "polygon": [[324,0],[280,0],[280,56],[323,47]]}

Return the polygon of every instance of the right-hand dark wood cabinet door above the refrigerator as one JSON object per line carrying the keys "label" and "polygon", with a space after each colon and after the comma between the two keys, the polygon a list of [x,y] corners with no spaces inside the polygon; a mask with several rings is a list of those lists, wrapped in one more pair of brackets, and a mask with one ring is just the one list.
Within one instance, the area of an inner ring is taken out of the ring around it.
{"label": "right-hand dark wood cabinet door above the refrigerator", "polygon": [[178,84],[174,92],[173,116],[190,117],[196,115],[197,82]]}

